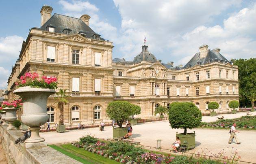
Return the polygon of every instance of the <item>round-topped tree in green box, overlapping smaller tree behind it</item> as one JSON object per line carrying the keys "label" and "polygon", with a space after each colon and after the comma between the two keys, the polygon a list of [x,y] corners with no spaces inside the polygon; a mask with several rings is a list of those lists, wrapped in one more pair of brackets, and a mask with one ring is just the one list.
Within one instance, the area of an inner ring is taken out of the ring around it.
{"label": "round-topped tree in green box, overlapping smaller tree behind it", "polygon": [[132,115],[133,105],[128,101],[113,101],[108,103],[106,113],[110,119],[117,121],[117,125],[122,128],[122,124]]}

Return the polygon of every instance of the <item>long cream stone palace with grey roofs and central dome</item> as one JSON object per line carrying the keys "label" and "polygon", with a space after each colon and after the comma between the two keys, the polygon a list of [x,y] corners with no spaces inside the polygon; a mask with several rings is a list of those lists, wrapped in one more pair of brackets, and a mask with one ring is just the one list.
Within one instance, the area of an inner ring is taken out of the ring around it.
{"label": "long cream stone palace with grey roofs and central dome", "polygon": [[[133,61],[112,60],[113,43],[89,27],[89,15],[80,19],[52,15],[52,7],[41,8],[41,27],[31,28],[22,43],[19,58],[8,79],[8,100],[15,81],[25,72],[57,77],[58,89],[67,89],[64,106],[66,125],[91,124],[108,120],[108,102],[127,100],[141,106],[141,115],[152,117],[157,106],[174,101],[193,102],[202,113],[207,104],[219,103],[217,111],[227,111],[230,100],[239,100],[238,68],[223,57],[220,49],[199,47],[185,66],[162,63],[143,45]],[[57,91],[58,91],[57,89]],[[49,121],[59,121],[59,109],[52,95],[48,99]],[[17,112],[18,117],[22,109]]]}

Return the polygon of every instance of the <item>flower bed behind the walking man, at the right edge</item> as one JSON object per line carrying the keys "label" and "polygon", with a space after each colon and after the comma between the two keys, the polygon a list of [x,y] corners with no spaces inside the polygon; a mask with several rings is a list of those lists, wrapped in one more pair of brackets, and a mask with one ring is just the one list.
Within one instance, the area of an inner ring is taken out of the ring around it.
{"label": "flower bed behind the walking man, at the right edge", "polygon": [[200,127],[230,128],[233,123],[238,128],[256,128],[256,116],[242,116],[236,119],[222,119],[214,122],[202,122]]}

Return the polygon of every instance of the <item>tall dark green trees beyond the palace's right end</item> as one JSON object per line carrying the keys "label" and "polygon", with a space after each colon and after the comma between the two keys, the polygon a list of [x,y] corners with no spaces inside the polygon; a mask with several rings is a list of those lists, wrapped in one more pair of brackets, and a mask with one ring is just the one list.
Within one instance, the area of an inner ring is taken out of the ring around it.
{"label": "tall dark green trees beyond the palace's right end", "polygon": [[252,103],[253,106],[256,94],[256,58],[231,61],[238,66],[239,104],[249,106]]}

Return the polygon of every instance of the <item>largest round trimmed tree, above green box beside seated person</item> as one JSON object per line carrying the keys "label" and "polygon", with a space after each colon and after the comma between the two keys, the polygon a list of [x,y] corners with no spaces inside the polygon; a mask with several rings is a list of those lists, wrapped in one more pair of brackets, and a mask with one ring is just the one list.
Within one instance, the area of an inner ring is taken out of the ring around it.
{"label": "largest round trimmed tree, above green box beside seated person", "polygon": [[169,110],[169,123],[171,128],[184,129],[184,135],[187,134],[187,128],[192,129],[200,125],[202,121],[201,111],[192,102],[173,102]]}

